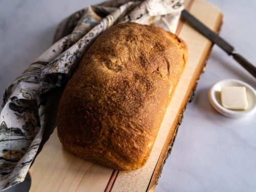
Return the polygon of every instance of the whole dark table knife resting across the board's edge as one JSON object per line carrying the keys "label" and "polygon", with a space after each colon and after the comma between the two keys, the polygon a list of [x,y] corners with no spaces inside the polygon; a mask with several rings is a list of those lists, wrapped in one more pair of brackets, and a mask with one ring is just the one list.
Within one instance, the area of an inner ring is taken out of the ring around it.
{"label": "whole dark table knife resting across the board's edge", "polygon": [[256,78],[256,67],[252,65],[248,60],[246,60],[242,55],[238,54],[233,46],[231,46],[226,40],[220,37],[215,32],[211,31],[208,27],[202,24],[196,17],[191,15],[188,11],[183,10],[181,16],[187,20],[187,22],[197,29],[202,35],[214,42],[221,49],[223,49],[228,55],[233,56],[233,58],[240,63],[251,75]]}

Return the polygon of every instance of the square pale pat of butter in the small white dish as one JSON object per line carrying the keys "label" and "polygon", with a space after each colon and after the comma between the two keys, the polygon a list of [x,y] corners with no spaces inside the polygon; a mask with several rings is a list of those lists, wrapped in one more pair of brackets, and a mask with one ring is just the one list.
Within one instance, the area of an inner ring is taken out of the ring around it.
{"label": "square pale pat of butter in the small white dish", "polygon": [[222,106],[230,110],[246,110],[248,101],[245,87],[222,87]]}

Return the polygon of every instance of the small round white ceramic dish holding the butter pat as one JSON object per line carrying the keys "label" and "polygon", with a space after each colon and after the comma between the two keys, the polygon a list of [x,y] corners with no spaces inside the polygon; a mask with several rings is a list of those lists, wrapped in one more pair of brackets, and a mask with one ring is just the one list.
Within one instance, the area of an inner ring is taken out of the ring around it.
{"label": "small round white ceramic dish holding the butter pat", "polygon": [[[221,105],[221,88],[223,86],[243,86],[246,88],[248,108],[246,110],[228,110]],[[211,105],[222,115],[232,118],[240,118],[252,115],[256,112],[256,91],[249,84],[236,80],[224,79],[216,82],[208,91],[208,98]]]}

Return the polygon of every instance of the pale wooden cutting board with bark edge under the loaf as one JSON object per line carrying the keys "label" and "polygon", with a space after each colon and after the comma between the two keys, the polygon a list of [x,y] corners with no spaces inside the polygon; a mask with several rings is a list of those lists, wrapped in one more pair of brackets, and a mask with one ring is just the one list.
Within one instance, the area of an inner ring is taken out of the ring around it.
{"label": "pale wooden cutting board with bark edge under the loaf", "polygon": [[[218,32],[222,14],[204,0],[187,0],[186,9],[210,29]],[[131,172],[102,167],[63,150],[53,132],[29,169],[30,191],[153,191],[164,161],[172,150],[178,126],[197,79],[204,69],[211,42],[182,19],[177,34],[186,41],[189,58],[170,102],[148,162]]]}

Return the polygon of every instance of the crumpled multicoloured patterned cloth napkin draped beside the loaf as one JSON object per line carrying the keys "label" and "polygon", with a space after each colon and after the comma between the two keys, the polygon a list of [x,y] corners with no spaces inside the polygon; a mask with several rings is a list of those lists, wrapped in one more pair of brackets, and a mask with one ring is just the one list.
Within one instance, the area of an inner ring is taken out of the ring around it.
{"label": "crumpled multicoloured patterned cloth napkin draped beside the loaf", "polygon": [[183,7],[183,0],[111,0],[77,11],[59,24],[54,44],[5,91],[0,117],[1,191],[24,181],[37,153],[50,109],[41,95],[65,86],[97,36],[122,22],[175,33]]}

